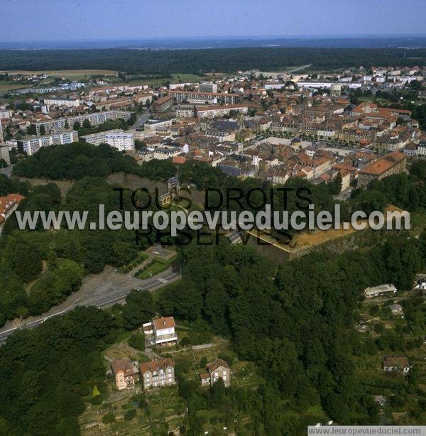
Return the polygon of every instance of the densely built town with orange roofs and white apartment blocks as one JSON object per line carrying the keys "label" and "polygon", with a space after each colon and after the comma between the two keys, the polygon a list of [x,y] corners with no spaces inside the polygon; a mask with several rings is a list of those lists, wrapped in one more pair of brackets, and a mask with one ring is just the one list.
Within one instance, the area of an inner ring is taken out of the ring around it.
{"label": "densely built town with orange roofs and white apartment blocks", "polygon": [[423,75],[421,67],[250,71],[168,86],[99,86],[105,78],[49,96],[8,92],[1,158],[9,164],[10,154],[80,140],[108,143],[138,163],[197,160],[281,185],[339,175],[345,191],[403,171],[406,156],[426,157],[419,121],[391,104],[400,94],[398,102],[421,102]]}

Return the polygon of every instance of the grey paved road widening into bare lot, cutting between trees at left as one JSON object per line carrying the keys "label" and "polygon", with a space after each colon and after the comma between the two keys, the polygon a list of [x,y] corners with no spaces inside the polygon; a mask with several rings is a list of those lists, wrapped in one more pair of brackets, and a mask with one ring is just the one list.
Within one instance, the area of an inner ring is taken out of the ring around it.
{"label": "grey paved road widening into bare lot, cutting between trees at left", "polygon": [[28,317],[23,322],[9,321],[0,329],[0,344],[18,329],[33,327],[42,324],[45,320],[74,309],[77,306],[109,307],[115,303],[122,303],[132,289],[149,290],[153,292],[180,278],[178,271],[168,268],[153,278],[140,280],[127,274],[117,273],[114,268],[107,266],[100,274],[84,278],[82,287],[77,293],[70,295],[64,303],[52,307],[48,312],[38,317]]}

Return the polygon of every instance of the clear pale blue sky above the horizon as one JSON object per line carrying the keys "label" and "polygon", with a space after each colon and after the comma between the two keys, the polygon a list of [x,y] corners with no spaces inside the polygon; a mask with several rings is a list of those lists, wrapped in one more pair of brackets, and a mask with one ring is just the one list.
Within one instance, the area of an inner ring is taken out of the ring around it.
{"label": "clear pale blue sky above the horizon", "polygon": [[0,41],[425,34],[426,0],[0,0]]}

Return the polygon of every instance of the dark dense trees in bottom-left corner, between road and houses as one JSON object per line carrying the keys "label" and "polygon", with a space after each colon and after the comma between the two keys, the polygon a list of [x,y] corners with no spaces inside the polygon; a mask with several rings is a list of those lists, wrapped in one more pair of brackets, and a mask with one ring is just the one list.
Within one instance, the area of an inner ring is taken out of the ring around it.
{"label": "dark dense trees in bottom-left corner, between road and houses", "polygon": [[114,319],[94,307],[13,334],[0,347],[1,434],[80,435],[82,396],[103,385],[100,351],[115,334]]}

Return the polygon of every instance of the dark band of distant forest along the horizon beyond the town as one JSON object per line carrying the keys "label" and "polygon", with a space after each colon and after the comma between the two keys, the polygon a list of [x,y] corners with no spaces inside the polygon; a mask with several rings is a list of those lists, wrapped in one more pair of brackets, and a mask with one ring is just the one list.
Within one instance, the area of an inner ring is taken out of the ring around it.
{"label": "dark band of distant forest along the horizon beyond the town", "polygon": [[138,74],[424,65],[425,48],[222,48],[194,50],[0,50],[4,70],[107,69]]}

